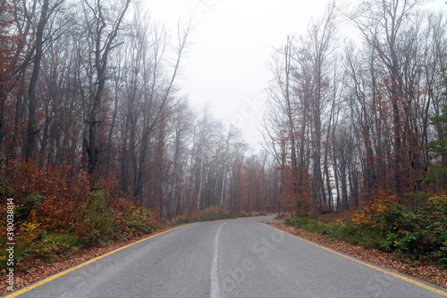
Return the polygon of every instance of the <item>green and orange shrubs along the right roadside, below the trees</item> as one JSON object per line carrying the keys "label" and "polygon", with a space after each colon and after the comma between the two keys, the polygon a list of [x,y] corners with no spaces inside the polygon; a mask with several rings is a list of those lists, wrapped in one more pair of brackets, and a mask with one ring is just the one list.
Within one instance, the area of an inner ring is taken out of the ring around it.
{"label": "green and orange shrubs along the right roadside, below the trees", "polygon": [[426,199],[415,209],[382,193],[345,219],[336,219],[334,213],[332,220],[297,216],[284,223],[365,248],[396,252],[402,261],[432,261],[446,269],[447,195],[423,195]]}

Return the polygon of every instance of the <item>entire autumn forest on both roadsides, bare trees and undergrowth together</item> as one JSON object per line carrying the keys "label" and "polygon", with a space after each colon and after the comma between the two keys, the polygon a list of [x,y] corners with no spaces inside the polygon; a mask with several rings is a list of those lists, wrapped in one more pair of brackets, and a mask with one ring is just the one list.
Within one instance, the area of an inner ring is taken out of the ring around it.
{"label": "entire autumn forest on both roadsides, bare trees and undergrowth together", "polygon": [[[266,210],[446,269],[447,20],[422,3],[364,0],[341,14],[333,2],[287,37],[253,154],[177,85],[190,24],[171,38],[130,0],[2,2],[1,277],[8,242],[14,272],[32,273],[166,226]],[[339,45],[341,21],[359,43]]]}

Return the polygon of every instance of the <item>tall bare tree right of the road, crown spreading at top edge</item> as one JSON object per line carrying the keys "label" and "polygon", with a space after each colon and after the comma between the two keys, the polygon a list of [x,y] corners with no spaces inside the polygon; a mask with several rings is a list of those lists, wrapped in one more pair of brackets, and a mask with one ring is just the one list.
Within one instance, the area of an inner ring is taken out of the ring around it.
{"label": "tall bare tree right of the road, crown spreading at top edge", "polygon": [[387,70],[387,91],[392,104],[393,126],[393,193],[401,195],[402,119],[403,98],[402,62],[400,41],[403,30],[409,26],[409,17],[417,0],[364,1],[350,20],[358,27],[369,46],[372,46]]}

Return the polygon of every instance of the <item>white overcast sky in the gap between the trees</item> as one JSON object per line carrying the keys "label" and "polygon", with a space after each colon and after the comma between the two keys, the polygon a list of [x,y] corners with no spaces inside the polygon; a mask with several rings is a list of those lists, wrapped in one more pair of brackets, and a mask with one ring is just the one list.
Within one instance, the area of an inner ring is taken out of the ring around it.
{"label": "white overcast sky in the gap between the trees", "polygon": [[[192,20],[188,55],[182,63],[182,91],[190,103],[209,103],[215,118],[242,128],[250,144],[261,141],[263,91],[272,73],[274,47],[307,29],[328,0],[143,0],[151,15],[174,29]],[[338,1],[341,2],[341,1]],[[358,0],[343,1],[358,2]],[[444,0],[431,5],[440,7]]]}

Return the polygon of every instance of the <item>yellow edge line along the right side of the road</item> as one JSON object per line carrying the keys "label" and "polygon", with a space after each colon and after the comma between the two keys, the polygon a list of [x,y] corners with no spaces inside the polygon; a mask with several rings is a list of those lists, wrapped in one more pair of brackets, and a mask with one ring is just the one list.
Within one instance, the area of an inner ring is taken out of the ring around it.
{"label": "yellow edge line along the right side of the road", "polygon": [[302,237],[300,237],[300,236],[293,235],[293,234],[288,233],[288,232],[286,232],[286,231],[284,231],[284,230],[282,230],[282,229],[280,229],[280,228],[274,228],[274,227],[272,227],[271,225],[267,225],[267,224],[265,224],[265,223],[261,223],[261,222],[258,222],[258,223],[261,224],[261,225],[263,225],[263,226],[266,226],[266,227],[268,227],[268,228],[273,228],[273,229],[275,229],[275,230],[277,230],[277,231],[279,231],[279,232],[281,232],[281,233],[283,233],[283,234],[285,234],[285,235],[289,235],[289,236],[292,236],[292,237],[294,237],[294,238],[297,238],[297,239],[299,239],[299,240],[301,240],[301,241],[304,241],[304,242],[306,242],[306,243],[308,243],[308,244],[312,244],[312,245],[314,245],[314,246],[317,246],[317,247],[319,247],[319,248],[322,248],[322,249],[324,249],[324,250],[327,251],[327,252],[333,252],[333,253],[335,253],[335,254],[338,254],[338,255],[342,256],[343,258],[349,259],[350,261],[358,262],[359,264],[362,264],[362,265],[367,266],[367,267],[372,268],[372,269],[376,269],[376,270],[378,270],[378,271],[380,271],[380,272],[383,272],[384,274],[390,275],[390,276],[392,276],[392,277],[399,278],[399,279],[401,279],[401,280],[405,280],[406,282],[409,282],[410,284],[413,284],[413,285],[416,285],[416,286],[423,287],[423,288],[425,288],[426,290],[432,291],[432,292],[434,292],[434,293],[436,293],[436,294],[442,294],[443,296],[447,297],[447,292],[445,292],[445,291],[443,291],[443,290],[441,290],[441,289],[437,289],[437,288],[435,288],[435,287],[433,287],[433,286],[428,286],[428,285],[426,285],[426,284],[424,284],[424,283],[418,282],[417,280],[415,280],[415,279],[413,279],[413,278],[406,277],[406,276],[403,276],[403,275],[398,274],[398,273],[396,273],[396,272],[392,272],[392,271],[389,271],[389,270],[387,270],[387,269],[380,268],[380,267],[375,266],[375,265],[373,265],[373,264],[368,264],[368,263],[365,262],[365,261],[360,261],[360,260],[357,259],[357,258],[351,257],[351,256],[349,256],[349,255],[346,255],[346,254],[342,253],[342,252],[337,252],[337,251],[333,250],[332,248],[329,248],[329,247],[324,246],[324,245],[322,245],[322,244],[316,244],[316,243],[313,242],[313,241],[310,241],[310,240],[308,240],[308,239],[302,238]]}

